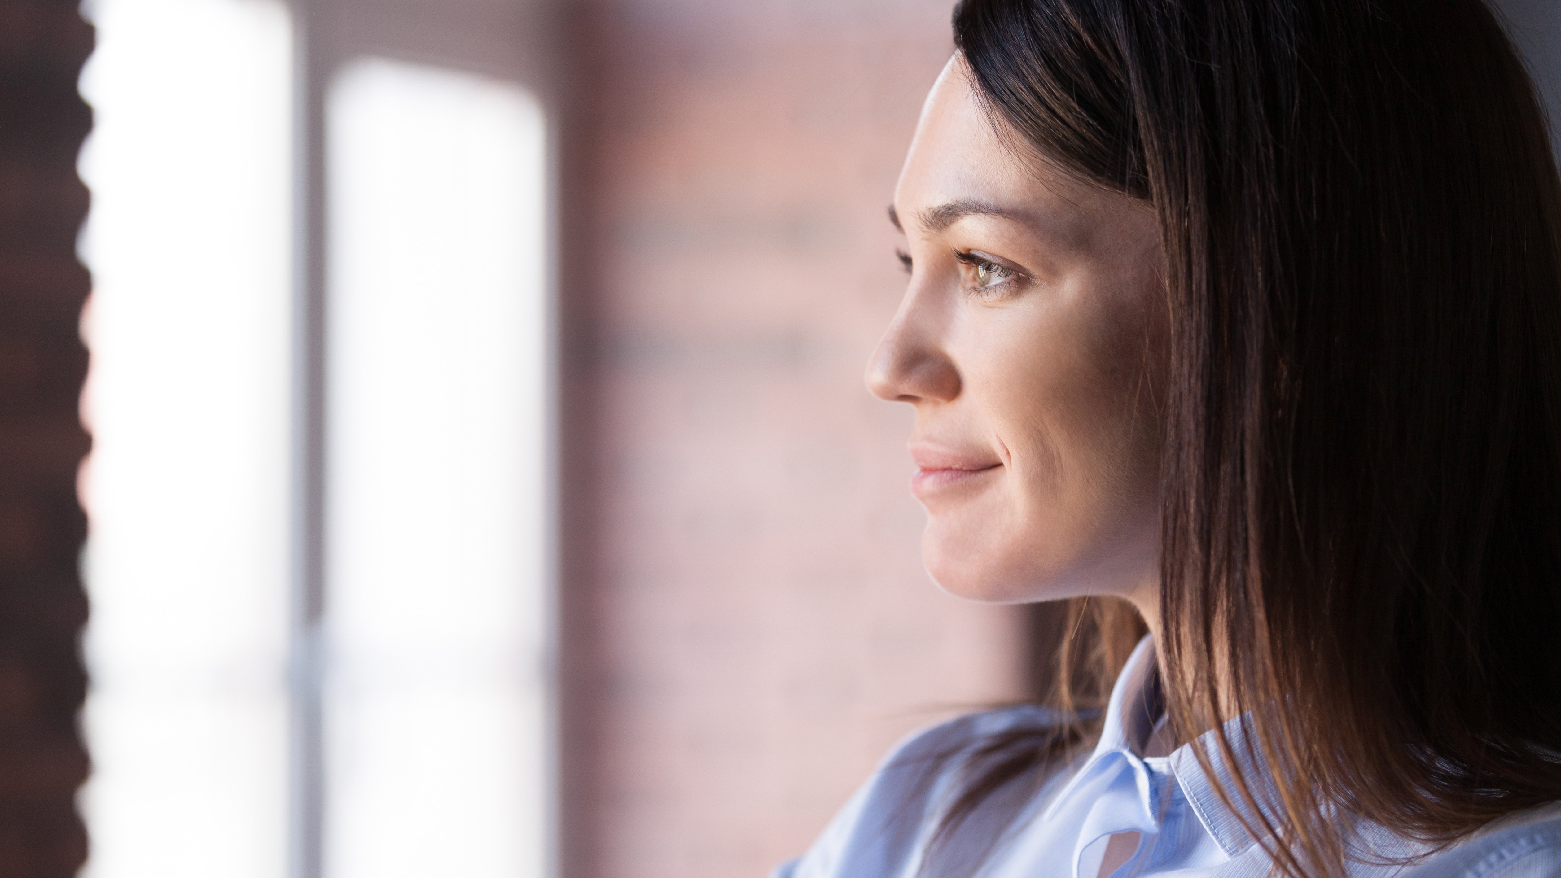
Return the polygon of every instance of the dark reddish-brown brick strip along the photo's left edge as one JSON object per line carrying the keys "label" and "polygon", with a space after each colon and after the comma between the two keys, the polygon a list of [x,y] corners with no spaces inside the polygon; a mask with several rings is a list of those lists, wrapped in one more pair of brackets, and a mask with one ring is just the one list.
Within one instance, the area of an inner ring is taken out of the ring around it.
{"label": "dark reddish-brown brick strip along the photo's left edge", "polygon": [[92,28],[73,2],[0,0],[0,876],[67,876],[86,858],[76,636],[86,519],[76,415],[89,290],[76,262],[91,112],[76,75]]}

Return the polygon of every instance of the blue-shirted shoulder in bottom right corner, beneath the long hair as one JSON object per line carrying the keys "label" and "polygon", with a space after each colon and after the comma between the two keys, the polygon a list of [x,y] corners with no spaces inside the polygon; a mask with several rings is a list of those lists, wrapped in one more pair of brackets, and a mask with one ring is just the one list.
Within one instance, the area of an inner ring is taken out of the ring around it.
{"label": "blue-shirted shoulder in bottom right corner, beneath the long hair", "polygon": [[1561,878],[1561,803],[1503,817],[1405,878]]}

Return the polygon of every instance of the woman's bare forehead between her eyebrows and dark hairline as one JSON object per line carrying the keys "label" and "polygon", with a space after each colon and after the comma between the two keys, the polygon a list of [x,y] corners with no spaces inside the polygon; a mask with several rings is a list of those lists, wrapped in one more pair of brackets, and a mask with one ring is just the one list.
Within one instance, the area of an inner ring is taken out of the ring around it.
{"label": "woman's bare forehead between her eyebrows and dark hairline", "polygon": [[907,231],[948,204],[991,204],[1015,215],[1077,214],[1093,187],[1016,154],[994,129],[965,62],[954,56],[927,94],[905,156],[894,209]]}

